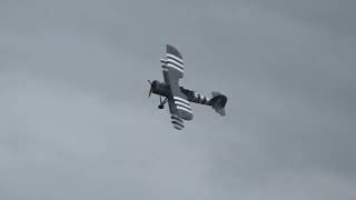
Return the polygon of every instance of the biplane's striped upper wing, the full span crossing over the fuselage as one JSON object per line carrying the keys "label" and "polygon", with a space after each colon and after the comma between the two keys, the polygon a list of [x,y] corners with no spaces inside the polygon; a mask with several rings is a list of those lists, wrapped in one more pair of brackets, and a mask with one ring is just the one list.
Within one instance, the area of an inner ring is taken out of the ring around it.
{"label": "biplane's striped upper wing, the full span crossing over the fuselage", "polygon": [[184,61],[180,52],[167,44],[166,58],[161,59],[165,82],[170,86],[168,100],[170,113],[184,120],[192,119],[192,111],[187,97],[180,91],[179,79],[184,77]]}

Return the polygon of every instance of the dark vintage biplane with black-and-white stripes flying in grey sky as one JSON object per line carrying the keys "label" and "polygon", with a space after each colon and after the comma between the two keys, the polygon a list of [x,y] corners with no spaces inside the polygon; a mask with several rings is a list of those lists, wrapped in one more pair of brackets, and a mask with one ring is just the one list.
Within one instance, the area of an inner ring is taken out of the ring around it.
{"label": "dark vintage biplane with black-and-white stripes flying in grey sky", "polygon": [[[171,123],[175,129],[184,129],[184,120],[192,120],[192,110],[189,102],[205,104],[211,107],[217,113],[225,116],[225,106],[227,97],[220,92],[212,91],[212,97],[207,98],[196,91],[179,86],[179,79],[184,77],[184,59],[181,53],[172,46],[166,46],[166,56],[160,60],[164,82],[158,80],[149,81],[151,93],[159,96],[159,109],[164,109],[168,102],[171,113]],[[165,98],[162,100],[162,97]]]}

